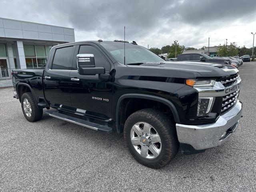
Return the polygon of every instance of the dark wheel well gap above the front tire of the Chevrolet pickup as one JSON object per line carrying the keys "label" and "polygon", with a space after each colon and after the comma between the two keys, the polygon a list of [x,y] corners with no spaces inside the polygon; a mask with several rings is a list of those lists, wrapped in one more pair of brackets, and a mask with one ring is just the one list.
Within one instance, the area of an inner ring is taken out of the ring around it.
{"label": "dark wheel well gap above the front tire of the Chevrolet pickup", "polygon": [[122,100],[119,108],[118,132],[122,132],[126,119],[132,113],[146,108],[159,110],[174,122],[172,110],[162,102],[142,98],[125,98]]}

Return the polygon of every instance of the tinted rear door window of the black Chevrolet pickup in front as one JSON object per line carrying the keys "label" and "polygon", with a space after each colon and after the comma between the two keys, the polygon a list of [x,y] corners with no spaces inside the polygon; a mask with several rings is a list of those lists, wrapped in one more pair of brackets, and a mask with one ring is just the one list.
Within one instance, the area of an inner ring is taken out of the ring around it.
{"label": "tinted rear door window of the black Chevrolet pickup in front", "polygon": [[54,70],[71,70],[74,56],[74,46],[58,48],[52,62]]}

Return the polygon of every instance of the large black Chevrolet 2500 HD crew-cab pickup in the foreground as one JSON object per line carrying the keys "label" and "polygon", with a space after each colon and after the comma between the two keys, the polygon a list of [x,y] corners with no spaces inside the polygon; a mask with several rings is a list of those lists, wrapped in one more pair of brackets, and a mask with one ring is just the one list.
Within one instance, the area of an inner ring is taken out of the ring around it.
{"label": "large black Chevrolet 2500 HD crew-cab pickup in the foreground", "polygon": [[166,62],[136,42],[98,40],[54,46],[45,69],[13,70],[12,81],[28,121],[46,108],[74,124],[117,130],[138,162],[160,168],[178,148],[202,152],[232,135],[242,115],[238,73]]}

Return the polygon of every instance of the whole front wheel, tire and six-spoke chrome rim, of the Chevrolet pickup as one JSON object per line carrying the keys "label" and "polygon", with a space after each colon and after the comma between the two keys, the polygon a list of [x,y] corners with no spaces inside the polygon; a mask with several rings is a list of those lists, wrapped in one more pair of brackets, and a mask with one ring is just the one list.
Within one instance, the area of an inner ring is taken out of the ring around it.
{"label": "whole front wheel, tire and six-spoke chrome rim, of the Chevrolet pickup", "polygon": [[132,156],[150,168],[168,164],[179,148],[174,124],[154,109],[131,114],[124,125],[124,139]]}

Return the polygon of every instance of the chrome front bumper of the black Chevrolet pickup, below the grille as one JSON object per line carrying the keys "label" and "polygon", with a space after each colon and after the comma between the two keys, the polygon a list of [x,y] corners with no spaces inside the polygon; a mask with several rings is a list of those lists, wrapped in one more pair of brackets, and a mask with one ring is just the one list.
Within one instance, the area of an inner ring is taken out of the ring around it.
{"label": "chrome front bumper of the black Chevrolet pickup, below the grille", "polygon": [[180,143],[190,144],[196,150],[216,147],[223,144],[236,131],[241,116],[242,102],[238,100],[235,106],[221,115],[215,123],[203,125],[177,123],[178,140]]}

